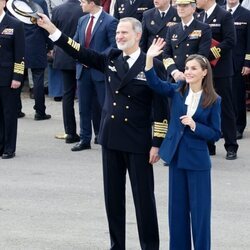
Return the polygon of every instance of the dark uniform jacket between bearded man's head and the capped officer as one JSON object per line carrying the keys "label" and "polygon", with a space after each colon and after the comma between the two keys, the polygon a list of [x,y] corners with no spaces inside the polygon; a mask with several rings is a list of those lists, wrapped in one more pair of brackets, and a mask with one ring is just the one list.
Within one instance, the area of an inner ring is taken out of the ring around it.
{"label": "dark uniform jacket between bearded man's head and the capped officer", "polygon": [[154,38],[161,37],[165,39],[168,28],[178,22],[180,22],[180,18],[173,7],[169,8],[163,19],[156,8],[145,11],[142,18],[142,38],[140,43],[142,50],[146,52]]}

